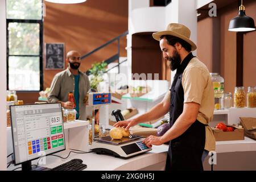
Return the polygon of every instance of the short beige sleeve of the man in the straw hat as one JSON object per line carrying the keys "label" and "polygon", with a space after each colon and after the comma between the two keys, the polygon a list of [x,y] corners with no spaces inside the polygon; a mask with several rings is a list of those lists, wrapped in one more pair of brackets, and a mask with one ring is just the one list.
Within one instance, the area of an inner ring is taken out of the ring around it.
{"label": "short beige sleeve of the man in the straw hat", "polygon": [[207,77],[204,71],[199,68],[191,68],[184,71],[182,78],[182,86],[184,90],[184,103],[196,102],[201,104]]}

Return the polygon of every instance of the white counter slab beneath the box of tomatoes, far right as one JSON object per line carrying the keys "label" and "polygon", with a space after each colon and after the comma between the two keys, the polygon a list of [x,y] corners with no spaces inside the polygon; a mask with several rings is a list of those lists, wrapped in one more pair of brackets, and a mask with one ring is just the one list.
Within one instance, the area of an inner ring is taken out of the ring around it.
{"label": "white counter slab beneath the box of tomatoes, far right", "polygon": [[256,151],[256,140],[245,137],[244,140],[217,141],[216,152]]}

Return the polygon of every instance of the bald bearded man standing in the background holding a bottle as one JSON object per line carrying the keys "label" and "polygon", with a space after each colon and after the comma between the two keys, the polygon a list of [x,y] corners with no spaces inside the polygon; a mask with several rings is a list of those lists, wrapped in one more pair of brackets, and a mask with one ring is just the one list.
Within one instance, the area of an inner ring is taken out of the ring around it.
{"label": "bald bearded man standing in the background holding a bottle", "polygon": [[[90,82],[87,75],[79,71],[81,55],[77,51],[67,53],[66,62],[68,68],[57,73],[52,80],[49,102],[61,102],[65,109],[76,109],[76,119],[86,120],[84,98],[90,90]],[[68,94],[72,92],[75,103],[68,101]]]}

